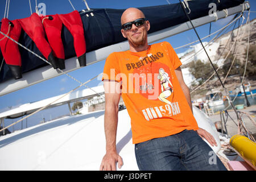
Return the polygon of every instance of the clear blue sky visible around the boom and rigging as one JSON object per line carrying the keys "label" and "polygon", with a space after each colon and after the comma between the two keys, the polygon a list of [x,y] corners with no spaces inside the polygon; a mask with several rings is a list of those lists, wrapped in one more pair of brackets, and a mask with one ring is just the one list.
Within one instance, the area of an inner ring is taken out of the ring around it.
{"label": "clear blue sky visible around the boom and rigging", "polygon": [[[170,3],[177,3],[178,0],[168,0]],[[73,11],[72,6],[70,5],[68,0],[38,0],[38,3],[46,4],[46,14],[65,14]],[[80,11],[82,9],[86,9],[85,3],[82,0],[71,0],[73,6],[76,10]],[[250,0],[251,11],[256,11],[256,1]],[[5,13],[5,1],[0,1],[0,17],[3,18]],[[120,1],[120,0],[87,0],[87,3],[90,8],[112,8],[112,9],[127,9],[128,7],[144,7],[144,6],[156,6],[156,5],[167,5],[168,2],[166,0],[129,0],[129,1]],[[35,0],[31,0],[32,12],[35,12]],[[26,18],[30,16],[30,5],[29,1],[20,1],[20,0],[10,0],[9,7],[9,19],[20,19]],[[256,13],[250,14],[250,19],[254,19],[256,17]],[[233,16],[229,16],[225,19],[220,19],[217,22],[212,23],[211,32],[214,32],[221,27],[223,27],[226,23],[232,19]],[[209,26],[210,24],[206,24],[201,27],[197,27],[196,30],[199,33],[199,36],[203,38],[206,35],[209,35]],[[209,41],[212,36],[204,41]],[[167,41],[172,44],[172,47],[183,46],[184,44],[190,43],[197,40],[197,36],[193,30],[189,30],[183,32],[179,35],[172,36],[167,39],[163,39],[161,41]],[[177,49],[176,53],[181,53],[187,50],[188,48]],[[88,67],[80,68],[77,71],[73,71],[69,73],[73,77],[77,78],[81,82],[85,82],[90,78],[102,73],[104,68],[105,60],[100,61],[96,64],[89,65]],[[100,78],[89,82],[88,86],[97,86],[100,84]],[[13,93],[6,94],[5,96],[0,97],[0,112],[9,109],[9,107],[15,107],[18,105],[26,104],[28,102],[35,102],[39,100],[43,100],[45,98],[57,96],[59,94],[67,93],[69,90],[72,90],[79,83],[73,81],[71,78],[67,76],[59,76],[56,78],[52,78],[51,80],[44,81],[40,84],[32,85],[28,88],[24,88],[22,90],[18,90]],[[81,88],[85,89],[85,87]],[[55,109],[48,109],[42,112],[39,112],[32,118],[28,118],[30,124],[28,126],[34,125],[34,123],[38,123],[42,118],[49,119],[50,115],[52,118],[57,117],[58,115],[68,113],[68,106],[60,106]],[[14,119],[16,121],[18,119]],[[34,120],[34,121],[33,121]],[[7,124],[13,122],[10,119],[6,119]],[[9,123],[8,123],[9,122]],[[23,127],[25,126],[23,122]],[[15,129],[20,128],[21,124],[15,126]],[[12,129],[10,129],[12,131]]]}

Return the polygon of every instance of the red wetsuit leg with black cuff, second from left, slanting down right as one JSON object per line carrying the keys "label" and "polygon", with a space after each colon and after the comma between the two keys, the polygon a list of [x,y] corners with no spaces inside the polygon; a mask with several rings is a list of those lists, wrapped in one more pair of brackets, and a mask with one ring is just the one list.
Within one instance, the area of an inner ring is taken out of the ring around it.
{"label": "red wetsuit leg with black cuff, second from left, slanting down right", "polygon": [[27,35],[34,41],[43,56],[52,64],[52,67],[55,69],[58,68],[59,65],[57,64],[56,58],[53,56],[51,46],[49,46],[45,38],[42,20],[38,14],[33,13],[28,18],[19,19],[19,23]]}

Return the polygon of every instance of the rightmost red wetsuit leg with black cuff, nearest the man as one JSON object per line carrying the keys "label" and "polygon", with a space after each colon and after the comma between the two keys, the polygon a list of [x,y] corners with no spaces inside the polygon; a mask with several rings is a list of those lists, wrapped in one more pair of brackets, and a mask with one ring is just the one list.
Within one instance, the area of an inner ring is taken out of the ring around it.
{"label": "rightmost red wetsuit leg with black cuff, nearest the man", "polygon": [[76,56],[78,57],[80,66],[86,66],[86,44],[84,37],[84,28],[82,26],[82,20],[79,12],[77,10],[69,14],[59,15],[64,26],[68,28],[74,39],[74,48],[76,51]]}

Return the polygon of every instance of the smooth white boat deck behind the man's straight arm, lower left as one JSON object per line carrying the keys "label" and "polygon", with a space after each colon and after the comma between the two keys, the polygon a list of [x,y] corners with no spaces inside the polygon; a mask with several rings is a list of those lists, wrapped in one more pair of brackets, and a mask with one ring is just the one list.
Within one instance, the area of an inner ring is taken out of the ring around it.
{"label": "smooth white boat deck behind the man's straight arm, lower left", "polygon": [[[121,170],[138,170],[127,110],[119,111],[117,131]],[[0,170],[98,170],[104,155],[104,110],[0,137]]]}

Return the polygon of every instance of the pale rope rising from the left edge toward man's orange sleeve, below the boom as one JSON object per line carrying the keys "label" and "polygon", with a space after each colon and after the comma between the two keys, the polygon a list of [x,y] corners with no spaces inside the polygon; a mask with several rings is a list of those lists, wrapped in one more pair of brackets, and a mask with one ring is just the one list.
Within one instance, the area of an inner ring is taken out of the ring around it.
{"label": "pale rope rising from the left edge toward man's orange sleeve, below the boom", "polygon": [[[100,75],[100,74],[99,74],[99,75]],[[73,90],[69,91],[68,93],[65,93],[63,96],[61,96],[61,97],[57,98],[55,101],[52,101],[52,102],[51,102],[51,103],[49,103],[48,105],[46,105],[46,106],[44,106],[44,107],[42,107],[42,108],[40,108],[40,109],[38,109],[38,110],[34,111],[33,113],[31,113],[31,114],[27,115],[26,117],[24,117],[24,118],[22,118],[22,119],[19,119],[18,121],[16,121],[16,122],[12,123],[11,125],[6,126],[5,128],[1,129],[1,130],[0,130],[0,132],[1,132],[1,131],[3,131],[3,130],[5,130],[5,129],[7,129],[7,128],[9,128],[9,127],[11,127],[11,126],[13,126],[13,125],[15,125],[16,123],[18,123],[18,122],[20,122],[20,121],[23,121],[24,119],[26,119],[26,118],[30,117],[31,115],[34,115],[34,114],[38,113],[39,111],[41,111],[41,110],[43,110],[43,109],[46,109],[46,107],[48,107],[48,106],[52,105],[54,102],[59,101],[61,98],[63,98],[63,97],[65,97],[65,96],[67,96],[68,94],[72,93],[72,92],[73,92],[73,91],[75,91],[76,89],[79,89],[81,86],[83,86],[83,85],[87,84],[88,82],[92,81],[93,79],[95,79],[95,78],[97,78],[97,77],[98,77],[98,75],[97,75],[97,76],[95,76],[95,77],[93,77],[93,78],[91,78],[91,79],[90,79],[90,80],[88,80],[88,81],[85,81],[85,82],[84,82],[84,83],[82,83],[81,85],[77,86],[75,89],[73,89]]]}

